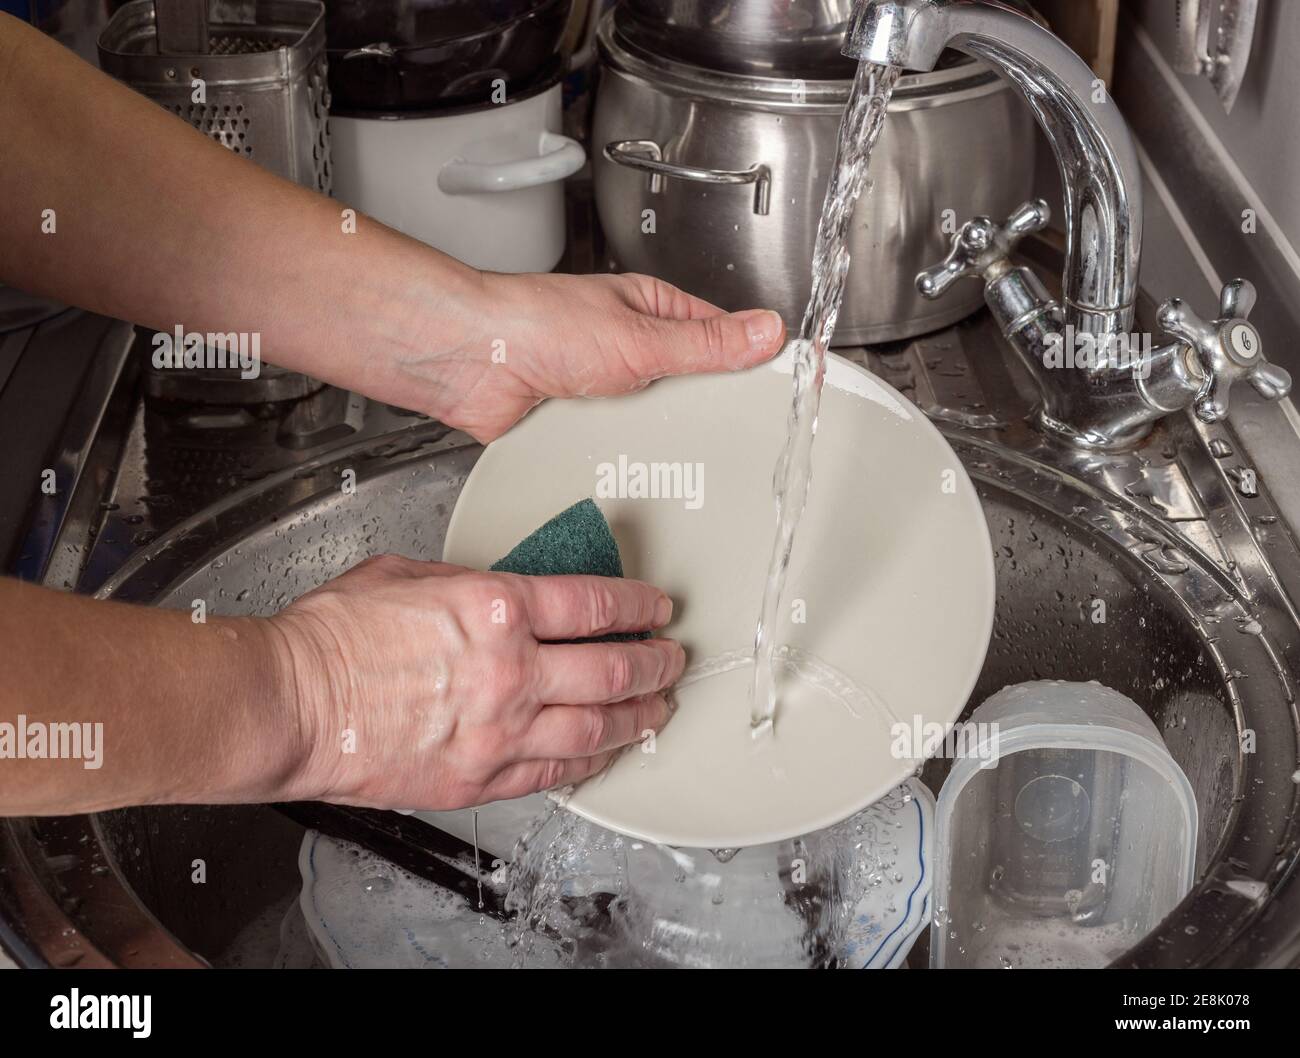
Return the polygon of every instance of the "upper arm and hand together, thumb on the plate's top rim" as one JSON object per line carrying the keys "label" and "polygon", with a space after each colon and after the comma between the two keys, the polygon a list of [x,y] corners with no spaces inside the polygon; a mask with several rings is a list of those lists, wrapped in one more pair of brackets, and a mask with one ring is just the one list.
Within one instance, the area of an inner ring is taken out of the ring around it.
{"label": "upper arm and hand together, thumb on the plate's top rim", "polygon": [[164,334],[256,338],[266,363],[481,441],[547,396],[736,370],[784,341],[775,312],[727,313],[645,276],[481,273],[3,14],[0,151],[0,282]]}

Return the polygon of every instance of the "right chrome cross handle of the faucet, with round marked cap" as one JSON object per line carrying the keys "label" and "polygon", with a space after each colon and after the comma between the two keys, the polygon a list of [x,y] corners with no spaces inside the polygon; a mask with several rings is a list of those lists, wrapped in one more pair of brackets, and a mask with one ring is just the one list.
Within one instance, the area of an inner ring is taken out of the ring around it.
{"label": "right chrome cross handle of the faucet, with round marked cap", "polygon": [[1291,393],[1291,374],[1264,359],[1260,331],[1247,321],[1254,308],[1254,286],[1232,279],[1219,294],[1219,316],[1202,320],[1180,298],[1164,302],[1156,315],[1161,330],[1183,342],[1195,356],[1188,361],[1201,380],[1192,402],[1202,422],[1227,417],[1227,396],[1232,383],[1245,380],[1265,400],[1280,400]]}

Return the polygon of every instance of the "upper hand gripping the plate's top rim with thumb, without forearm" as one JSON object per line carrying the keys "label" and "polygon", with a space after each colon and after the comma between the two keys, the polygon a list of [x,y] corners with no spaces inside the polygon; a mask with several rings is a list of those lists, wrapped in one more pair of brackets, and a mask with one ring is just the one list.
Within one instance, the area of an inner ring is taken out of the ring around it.
{"label": "upper hand gripping the plate's top rim with thumb, without forearm", "polygon": [[[775,356],[775,312],[725,313],[649,276],[482,274],[481,296],[400,365],[421,408],[491,441],[547,396],[612,396],[666,374],[736,370]],[[432,383],[432,385],[430,385]]]}

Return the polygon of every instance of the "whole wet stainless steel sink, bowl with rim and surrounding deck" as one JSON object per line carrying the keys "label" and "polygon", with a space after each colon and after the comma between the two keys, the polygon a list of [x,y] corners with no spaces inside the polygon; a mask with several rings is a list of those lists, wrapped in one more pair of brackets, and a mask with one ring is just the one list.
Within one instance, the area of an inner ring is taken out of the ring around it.
{"label": "whole wet stainless steel sink, bowl with rim and surrounding deck", "polygon": [[[914,343],[853,352],[935,419],[984,502],[997,616],[967,711],[1035,678],[1098,680],[1130,695],[1196,792],[1199,879],[1119,963],[1296,961],[1300,620],[1291,599],[1300,552],[1291,533],[1266,482],[1244,487],[1249,468],[1230,428],[1175,419],[1136,451],[1080,452],[1026,425],[1032,389],[1006,354],[983,313]],[[480,451],[430,422],[332,448],[181,521],[98,594],[272,613],[368,555],[438,558]],[[355,493],[341,487],[347,471]],[[937,790],[944,773],[931,762],[923,777]],[[78,833],[92,850],[84,877],[65,871],[51,885],[66,894],[83,883],[77,922],[91,937],[135,937],[136,962],[159,962],[159,951],[182,962],[191,953],[230,962],[238,951],[247,962],[250,936],[269,936],[298,892],[303,832],[265,807],[131,808],[20,838],[48,855]],[[188,883],[195,858],[209,879],[222,872],[220,885]],[[130,962],[127,942],[100,940],[99,949]]]}

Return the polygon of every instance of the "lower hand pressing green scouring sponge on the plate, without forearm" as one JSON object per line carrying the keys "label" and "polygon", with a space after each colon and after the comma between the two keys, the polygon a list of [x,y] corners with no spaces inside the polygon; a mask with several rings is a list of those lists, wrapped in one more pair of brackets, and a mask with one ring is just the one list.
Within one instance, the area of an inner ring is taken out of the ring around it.
{"label": "lower hand pressing green scouring sponge on the plate, without forearm", "polygon": [[551,641],[671,613],[640,581],[369,559],[270,619],[307,747],[283,795],[441,810],[578,782],[667,723],[682,650]]}

